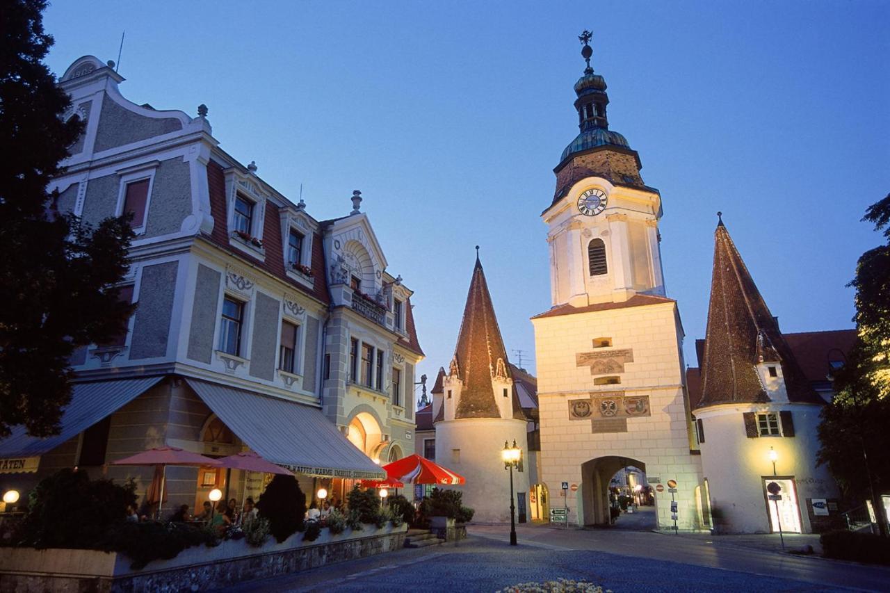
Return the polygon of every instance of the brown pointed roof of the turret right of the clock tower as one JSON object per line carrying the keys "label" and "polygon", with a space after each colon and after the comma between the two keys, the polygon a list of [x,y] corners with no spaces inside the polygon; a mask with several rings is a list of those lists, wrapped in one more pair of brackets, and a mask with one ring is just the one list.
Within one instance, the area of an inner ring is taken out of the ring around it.
{"label": "brown pointed roof of the turret right of the clock tower", "polygon": [[756,371],[759,362],[781,364],[790,402],[822,402],[797,365],[720,219],[714,232],[714,270],[697,407],[769,402]]}

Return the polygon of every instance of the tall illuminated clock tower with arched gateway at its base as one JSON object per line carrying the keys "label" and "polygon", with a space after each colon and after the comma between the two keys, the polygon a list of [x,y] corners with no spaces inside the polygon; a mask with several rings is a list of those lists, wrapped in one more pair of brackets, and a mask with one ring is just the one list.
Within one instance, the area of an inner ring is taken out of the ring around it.
{"label": "tall illuminated clock tower with arched gateway at its base", "polygon": [[701,463],[683,329],[661,271],[661,196],[643,183],[627,139],[609,129],[609,96],[590,67],[590,37],[579,37],[587,61],[575,83],[580,131],[562,151],[556,191],[541,213],[552,297],[552,307],[532,318],[541,475],[558,507],[562,483],[577,486],[564,493],[571,523],[609,524],[611,480],[622,467],[637,467],[653,488],[662,484],[656,524],[673,527],[676,518],[678,529],[695,530]]}

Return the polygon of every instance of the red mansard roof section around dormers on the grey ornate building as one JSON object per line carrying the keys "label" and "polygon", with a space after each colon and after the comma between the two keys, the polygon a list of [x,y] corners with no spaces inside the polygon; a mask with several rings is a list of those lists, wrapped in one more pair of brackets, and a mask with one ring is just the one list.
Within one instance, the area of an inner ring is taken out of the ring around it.
{"label": "red mansard roof section around dormers on the grey ornate building", "polygon": [[319,299],[328,304],[328,279],[325,276],[325,254],[321,245],[320,233],[312,235],[312,273],[313,286],[306,288],[302,283],[293,280],[284,269],[284,252],[281,245],[281,224],[279,222],[279,207],[266,201],[265,222],[263,225],[263,249],[266,252],[265,261],[260,261],[239,249],[232,248],[229,242],[228,223],[225,203],[225,175],[223,167],[214,161],[207,163],[207,184],[210,192],[210,214],[214,217],[214,230],[209,239],[232,256],[238,256],[248,263],[255,265],[265,272],[269,272],[279,280]]}

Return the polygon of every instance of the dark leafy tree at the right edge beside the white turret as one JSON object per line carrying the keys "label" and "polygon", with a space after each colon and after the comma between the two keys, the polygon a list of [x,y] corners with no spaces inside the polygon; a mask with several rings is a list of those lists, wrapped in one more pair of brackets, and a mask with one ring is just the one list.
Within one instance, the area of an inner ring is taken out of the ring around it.
{"label": "dark leafy tree at the right edge beside the white turret", "polygon": [[[835,375],[835,397],[822,410],[820,464],[827,464],[845,496],[869,499],[890,484],[890,194],[862,218],[884,230],[886,245],[866,251],[856,264],[856,343]],[[884,525],[881,531],[884,532]]]}

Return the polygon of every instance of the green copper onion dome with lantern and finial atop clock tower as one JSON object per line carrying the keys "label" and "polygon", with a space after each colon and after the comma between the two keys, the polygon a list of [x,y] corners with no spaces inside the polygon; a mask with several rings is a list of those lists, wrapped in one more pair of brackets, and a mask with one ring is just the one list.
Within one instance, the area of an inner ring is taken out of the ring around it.
{"label": "green copper onion dome with lantern and finial atop clock tower", "polygon": [[562,151],[560,162],[572,154],[598,146],[630,148],[623,135],[609,130],[609,120],[606,118],[606,106],[609,104],[606,81],[600,75],[594,74],[594,69],[590,67],[590,56],[594,53],[588,45],[591,37],[590,31],[584,31],[578,37],[584,44],[581,56],[587,62],[584,75],[575,83],[575,94],[578,95],[578,99],[575,100],[575,110],[578,110],[578,127],[581,131]]}

